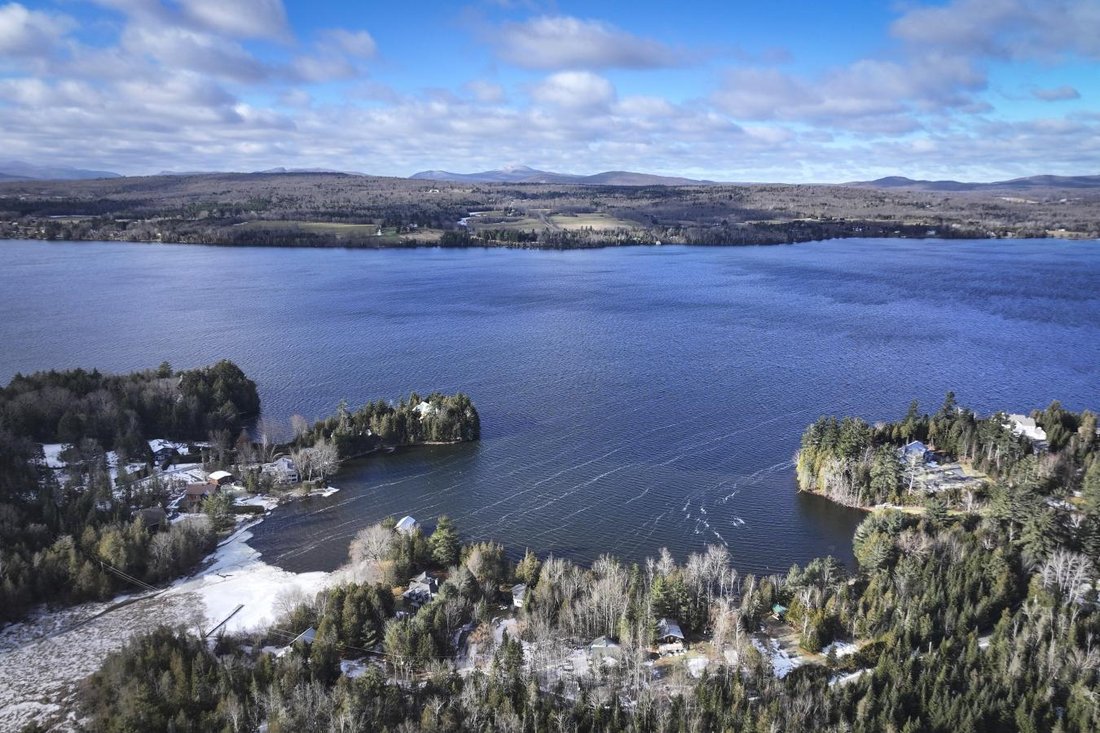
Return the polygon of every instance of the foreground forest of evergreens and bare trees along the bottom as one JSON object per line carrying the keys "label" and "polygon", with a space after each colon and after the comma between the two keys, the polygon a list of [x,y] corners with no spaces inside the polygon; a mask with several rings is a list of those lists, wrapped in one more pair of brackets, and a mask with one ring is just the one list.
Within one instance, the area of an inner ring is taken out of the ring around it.
{"label": "foreground forest of evergreens and bare trees along the bottom", "polygon": [[[182,630],[136,639],[90,678],[84,712],[92,731],[1097,730],[1096,566],[1074,536],[1025,549],[1022,519],[879,512],[856,533],[854,571],[825,558],[768,578],[739,576],[722,547],[683,565],[664,551],[641,566],[512,565],[499,545],[459,546],[446,519],[428,536],[391,522],[351,548],[353,567],[381,575],[288,603],[266,632],[213,649]],[[391,583],[420,569],[446,582],[395,617]],[[518,638],[494,643],[516,581],[529,589]],[[752,643],[777,603],[805,649],[846,638],[858,652],[779,678]],[[721,661],[700,679],[657,674],[660,617]],[[311,644],[256,652],[307,626]],[[492,660],[460,674],[468,631]],[[616,663],[560,671],[569,646],[597,636],[617,639]],[[349,658],[365,660],[361,675],[342,674]]]}

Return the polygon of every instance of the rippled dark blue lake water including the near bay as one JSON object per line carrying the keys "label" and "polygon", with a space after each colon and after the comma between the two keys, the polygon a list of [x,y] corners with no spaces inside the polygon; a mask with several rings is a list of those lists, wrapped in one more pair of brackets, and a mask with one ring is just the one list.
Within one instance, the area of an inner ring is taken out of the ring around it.
{"label": "rippled dark blue lake water including the near bay", "polygon": [[725,543],[746,571],[850,559],[794,491],[821,414],[1100,407],[1100,243],[846,240],[586,252],[3,242],[0,379],[237,361],[265,413],[464,391],[483,439],[356,462],[252,544],[331,569],[361,527],[447,513],[580,560]]}

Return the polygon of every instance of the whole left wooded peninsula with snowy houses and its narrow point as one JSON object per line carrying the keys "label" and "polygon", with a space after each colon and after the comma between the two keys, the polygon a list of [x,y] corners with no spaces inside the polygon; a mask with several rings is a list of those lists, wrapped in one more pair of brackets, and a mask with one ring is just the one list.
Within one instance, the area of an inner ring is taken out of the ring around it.
{"label": "whole left wooded peninsula with snowy houses and its narrow point", "polygon": [[238,505],[233,485],[244,496],[308,490],[343,460],[481,433],[462,394],[341,404],[282,433],[257,422],[260,407],[230,361],[16,374],[0,389],[0,623],[191,570],[234,515],[261,508]]}

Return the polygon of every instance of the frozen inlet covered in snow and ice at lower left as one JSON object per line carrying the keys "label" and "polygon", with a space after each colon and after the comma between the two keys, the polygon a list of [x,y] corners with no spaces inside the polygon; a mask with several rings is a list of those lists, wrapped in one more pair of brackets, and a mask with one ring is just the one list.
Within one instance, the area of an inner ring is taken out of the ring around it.
{"label": "frozen inlet covered in snow and ice at lower left", "polygon": [[[270,624],[288,589],[311,594],[337,573],[293,573],[267,565],[249,547],[248,527],[215,551],[212,562],[167,590],[42,611],[0,631],[0,731],[45,721],[70,707],[77,683],[133,637],[167,624],[208,632],[238,605],[229,632]],[[75,730],[69,721],[59,730]]]}

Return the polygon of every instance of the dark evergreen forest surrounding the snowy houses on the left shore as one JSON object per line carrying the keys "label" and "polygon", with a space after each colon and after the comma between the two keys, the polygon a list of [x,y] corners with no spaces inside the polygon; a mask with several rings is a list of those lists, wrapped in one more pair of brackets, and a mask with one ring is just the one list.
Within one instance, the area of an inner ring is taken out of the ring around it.
{"label": "dark evergreen forest surrounding the snowy houses on the left shore", "polygon": [[[0,390],[0,622],[40,602],[106,599],[174,578],[215,545],[206,517],[146,526],[164,506],[155,479],[111,480],[118,466],[152,460],[151,438],[230,435],[260,412],[256,386],[229,361],[125,375],[98,371],[19,374]],[[66,468],[43,464],[38,442],[70,442]]]}

